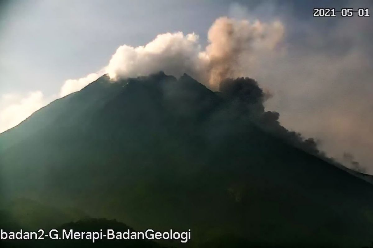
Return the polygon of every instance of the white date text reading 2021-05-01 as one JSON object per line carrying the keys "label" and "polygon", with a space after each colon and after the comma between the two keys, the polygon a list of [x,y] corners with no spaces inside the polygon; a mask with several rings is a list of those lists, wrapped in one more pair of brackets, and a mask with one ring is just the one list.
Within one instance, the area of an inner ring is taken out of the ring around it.
{"label": "white date text reading 2021-05-01", "polygon": [[369,8],[314,8],[313,16],[370,16]]}

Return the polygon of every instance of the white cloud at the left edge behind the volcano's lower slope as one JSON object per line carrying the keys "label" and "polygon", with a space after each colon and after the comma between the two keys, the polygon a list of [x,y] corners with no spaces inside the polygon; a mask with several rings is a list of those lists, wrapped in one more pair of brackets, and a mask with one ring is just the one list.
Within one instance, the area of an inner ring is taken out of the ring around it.
{"label": "white cloud at the left edge behind the volcano's lower slope", "polygon": [[0,133],[18,125],[47,103],[41,91],[4,94],[0,97]]}

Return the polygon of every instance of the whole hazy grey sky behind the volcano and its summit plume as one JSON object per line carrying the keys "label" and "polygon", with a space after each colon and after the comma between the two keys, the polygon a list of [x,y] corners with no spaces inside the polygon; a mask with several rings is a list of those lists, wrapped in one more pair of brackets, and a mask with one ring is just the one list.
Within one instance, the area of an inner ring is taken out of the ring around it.
{"label": "whole hazy grey sky behind the volcano and its summit plume", "polygon": [[[372,17],[313,17],[315,7],[373,12],[373,2],[363,0],[0,1],[0,132],[93,81],[115,64],[113,55],[128,59],[120,46],[181,31],[194,33],[203,52],[213,24],[228,16],[250,27],[258,20],[261,35],[276,37],[270,49],[257,44],[242,52],[234,75],[255,78],[270,92],[266,109],[279,112],[283,126],[373,174]],[[270,28],[275,22],[280,29]]]}

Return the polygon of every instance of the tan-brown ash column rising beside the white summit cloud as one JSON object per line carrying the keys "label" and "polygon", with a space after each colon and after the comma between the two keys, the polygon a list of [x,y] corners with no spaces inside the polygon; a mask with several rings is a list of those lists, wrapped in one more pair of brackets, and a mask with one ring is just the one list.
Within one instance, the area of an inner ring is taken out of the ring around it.
{"label": "tan-brown ash column rising beside the white summit cloud", "polygon": [[[247,65],[258,53],[272,51],[282,41],[284,26],[281,22],[261,23],[258,20],[235,20],[221,17],[211,26],[206,48],[208,78],[212,87],[228,77],[247,74]],[[245,65],[245,68],[242,68]]]}

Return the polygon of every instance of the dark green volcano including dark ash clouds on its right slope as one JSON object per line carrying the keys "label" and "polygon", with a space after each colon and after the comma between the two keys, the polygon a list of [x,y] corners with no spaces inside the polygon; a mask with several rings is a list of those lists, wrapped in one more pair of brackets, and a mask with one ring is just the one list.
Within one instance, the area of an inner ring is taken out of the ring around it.
{"label": "dark green volcano including dark ash clouds on its right slope", "polygon": [[281,127],[265,97],[248,78],[214,93],[188,75],[103,76],[0,135],[2,225],[90,216],[191,229],[197,247],[369,244],[373,185]]}

